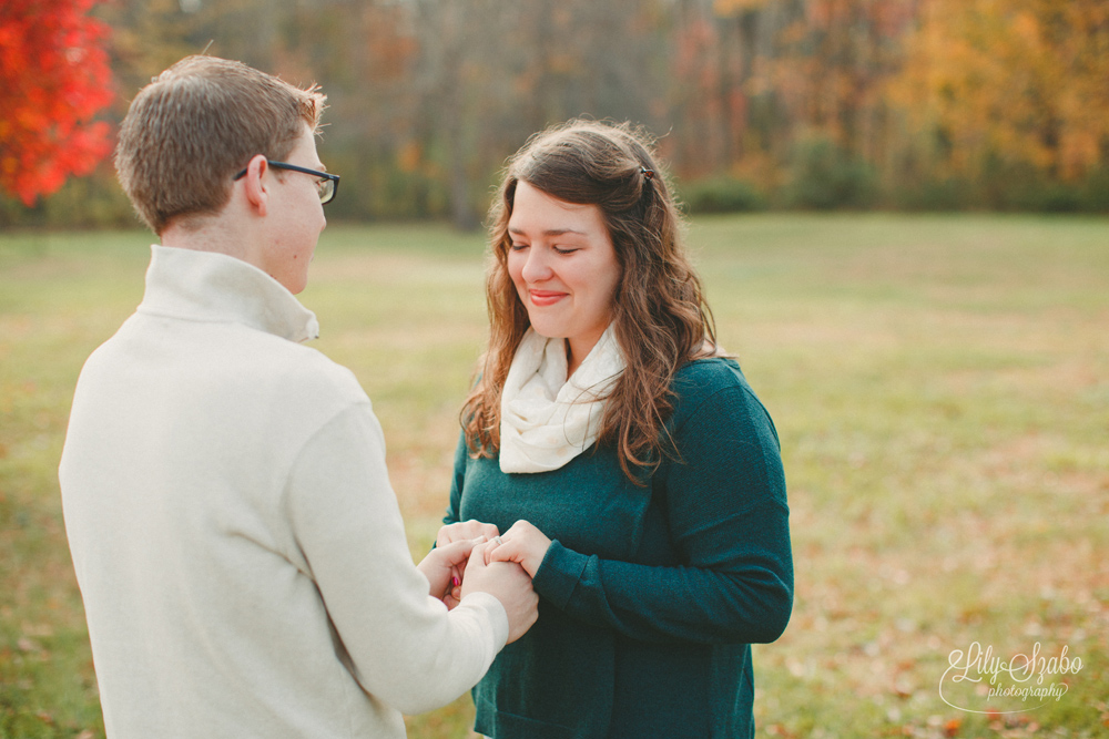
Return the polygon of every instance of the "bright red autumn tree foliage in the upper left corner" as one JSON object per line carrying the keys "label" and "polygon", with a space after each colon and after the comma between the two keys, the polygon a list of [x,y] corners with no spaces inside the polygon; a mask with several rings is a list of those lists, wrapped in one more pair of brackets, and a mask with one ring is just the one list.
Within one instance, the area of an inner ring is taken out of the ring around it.
{"label": "bright red autumn tree foliage in the upper left corner", "polygon": [[0,2],[0,191],[33,205],[111,151],[112,101],[95,0]]}

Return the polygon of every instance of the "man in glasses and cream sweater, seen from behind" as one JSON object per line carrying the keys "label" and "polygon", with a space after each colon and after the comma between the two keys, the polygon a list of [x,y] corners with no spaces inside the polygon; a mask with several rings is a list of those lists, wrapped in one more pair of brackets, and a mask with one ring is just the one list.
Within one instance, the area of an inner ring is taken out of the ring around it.
{"label": "man in glasses and cream sweater, seen from behind", "polygon": [[400,711],[465,692],[535,622],[521,569],[468,560],[485,544],[413,565],[369,400],[298,343],[338,184],[323,103],[192,57],[123,122],[120,181],[161,245],[81,372],[60,468],[109,737],[403,737]]}

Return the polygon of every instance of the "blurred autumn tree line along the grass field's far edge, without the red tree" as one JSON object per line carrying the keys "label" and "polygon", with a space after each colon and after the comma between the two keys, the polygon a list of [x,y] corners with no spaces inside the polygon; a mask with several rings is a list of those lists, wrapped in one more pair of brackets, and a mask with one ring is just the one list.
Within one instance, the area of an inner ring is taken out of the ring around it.
{"label": "blurred autumn tree line along the grass field's far edge, without the red tree", "polygon": [[[572,116],[659,136],[694,211],[1109,212],[1105,0],[115,0],[118,122],[206,51],[328,94],[329,215],[477,226],[507,156]],[[105,163],[31,209],[131,222]]]}

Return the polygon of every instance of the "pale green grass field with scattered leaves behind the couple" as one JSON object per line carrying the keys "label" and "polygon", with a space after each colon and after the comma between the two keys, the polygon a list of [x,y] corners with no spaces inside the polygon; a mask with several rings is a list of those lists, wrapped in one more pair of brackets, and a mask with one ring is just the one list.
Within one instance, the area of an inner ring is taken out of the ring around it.
{"label": "pale green grass field with scattered leaves behind the couple", "polygon": [[[1109,220],[765,215],[699,218],[691,240],[790,487],[796,604],[755,647],[760,736],[1109,735]],[[3,738],[103,732],[55,470],[147,243],[0,235]],[[333,226],[302,296],[374,400],[414,552],[485,336],[481,254],[435,226]],[[1066,648],[1069,674],[993,676],[1066,694],[945,677],[974,643],[1014,667]],[[462,698],[409,736],[468,737],[471,715]]]}

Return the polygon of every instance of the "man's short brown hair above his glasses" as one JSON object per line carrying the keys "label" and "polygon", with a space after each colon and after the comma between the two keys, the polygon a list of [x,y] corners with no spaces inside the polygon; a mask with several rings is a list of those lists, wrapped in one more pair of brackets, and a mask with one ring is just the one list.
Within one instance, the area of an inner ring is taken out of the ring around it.
{"label": "man's short brown hair above his glasses", "polygon": [[319,125],[325,96],[242,62],[186,57],[139,91],[115,150],[115,171],[155,234],[172,219],[218,213],[253,156],[283,161]]}

